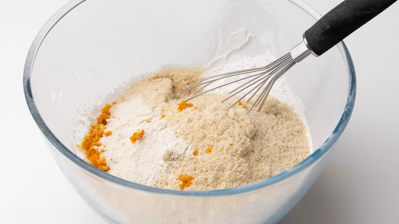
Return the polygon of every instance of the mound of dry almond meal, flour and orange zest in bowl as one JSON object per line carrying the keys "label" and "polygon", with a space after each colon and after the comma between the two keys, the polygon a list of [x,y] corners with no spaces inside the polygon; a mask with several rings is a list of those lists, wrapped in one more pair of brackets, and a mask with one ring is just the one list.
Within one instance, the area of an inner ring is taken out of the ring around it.
{"label": "mound of dry almond meal, flour and orange zest in bowl", "polygon": [[268,97],[220,103],[204,94],[174,97],[203,78],[202,69],[160,70],[105,105],[79,146],[86,160],[127,181],[174,190],[215,190],[278,174],[310,154],[305,125],[286,103]]}

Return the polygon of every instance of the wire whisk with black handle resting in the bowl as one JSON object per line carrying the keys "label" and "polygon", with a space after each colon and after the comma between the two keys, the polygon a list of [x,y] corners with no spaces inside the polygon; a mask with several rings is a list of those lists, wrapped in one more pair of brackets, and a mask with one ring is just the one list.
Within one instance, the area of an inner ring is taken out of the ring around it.
{"label": "wire whisk with black handle resting in the bowl", "polygon": [[[176,96],[176,98],[198,86],[201,86],[200,90],[198,90],[194,96],[185,101],[189,101],[194,97],[213,91],[216,88],[235,82],[246,81],[233,89],[233,91],[230,92],[230,95],[221,102],[224,102],[242,92],[243,94],[241,97],[232,103],[229,106],[230,108],[252,93],[251,96],[247,98],[247,102],[249,102],[260,91],[256,100],[248,109],[248,111],[251,111],[251,109],[257,108],[257,111],[260,111],[273,84],[279,77],[294,66],[294,64],[300,62],[310,54],[313,54],[316,57],[322,55],[346,36],[366,24],[376,15],[380,14],[394,2],[396,2],[396,0],[345,0],[321,17],[320,20],[318,20],[311,28],[306,30],[303,33],[303,41],[301,43],[291,49],[289,53],[278,58],[274,62],[260,68],[239,70],[207,77],[187,87],[183,92]],[[201,92],[209,84],[217,83],[217,81],[229,77],[237,78],[233,81],[219,84],[216,87],[211,87],[206,91]],[[249,81],[247,81],[248,79]]]}

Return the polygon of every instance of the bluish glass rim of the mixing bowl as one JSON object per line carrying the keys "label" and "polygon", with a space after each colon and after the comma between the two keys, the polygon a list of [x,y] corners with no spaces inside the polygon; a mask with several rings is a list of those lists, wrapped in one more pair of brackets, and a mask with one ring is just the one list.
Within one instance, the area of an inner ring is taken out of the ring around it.
{"label": "bluish glass rim of the mixing bowl", "polygon": [[[337,44],[339,51],[343,57],[344,63],[346,64],[347,72],[348,72],[348,81],[349,81],[349,89],[348,89],[348,97],[346,101],[346,105],[343,111],[343,114],[334,129],[331,135],[325,140],[325,142],[315,150],[311,155],[309,155],[305,160],[298,163],[297,165],[277,174],[266,178],[264,180],[243,185],[234,188],[227,188],[221,190],[207,190],[207,191],[179,191],[179,190],[168,190],[168,189],[161,189],[161,188],[154,188],[149,186],[144,186],[136,183],[132,183],[126,180],[123,180],[119,177],[110,175],[96,167],[86,163],[82,159],[80,159],[77,155],[75,155],[72,151],[66,148],[51,132],[48,128],[46,123],[41,118],[35,102],[32,97],[31,92],[31,85],[30,85],[30,78],[32,76],[32,68],[35,61],[36,54],[40,48],[42,41],[46,38],[47,34],[51,31],[51,29],[58,23],[60,19],[66,14],[68,14],[71,10],[75,7],[80,5],[81,3],[85,2],[86,0],[72,0],[69,3],[65,4],[60,10],[58,10],[48,21],[47,23],[40,29],[39,33],[35,37],[25,62],[25,69],[24,69],[24,77],[23,77],[23,84],[24,84],[24,93],[25,98],[31,112],[33,119],[35,120],[36,124],[39,126],[40,130],[43,132],[45,137],[58,149],[66,158],[71,160],[73,163],[78,165],[80,168],[86,170],[87,172],[96,175],[100,178],[103,178],[106,181],[121,185],[123,187],[127,187],[134,190],[141,190],[149,193],[154,194],[161,194],[161,195],[172,195],[172,196],[195,196],[195,197],[218,197],[218,196],[227,196],[227,195],[235,195],[235,194],[242,194],[251,191],[255,191],[261,188],[265,188],[271,186],[275,183],[285,180],[290,176],[302,171],[303,169],[311,166],[313,163],[317,162],[328,150],[331,150],[331,147],[336,143],[338,138],[341,136],[343,130],[345,129],[350,115],[353,110],[354,100],[356,98],[356,74],[354,71],[353,61],[349,54],[349,51],[343,41]],[[301,0],[287,0],[309,15],[314,17],[315,19],[320,19],[321,15],[313,9],[311,6],[307,5]]]}

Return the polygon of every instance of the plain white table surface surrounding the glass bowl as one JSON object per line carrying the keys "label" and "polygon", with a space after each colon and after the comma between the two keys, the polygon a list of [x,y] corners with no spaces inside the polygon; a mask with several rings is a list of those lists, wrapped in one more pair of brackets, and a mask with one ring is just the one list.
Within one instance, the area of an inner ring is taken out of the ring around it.
{"label": "plain white table surface surrounding the glass bowl", "polygon": [[[0,223],[106,223],[65,180],[25,102],[25,58],[67,0],[0,4]],[[307,0],[324,14],[340,0]],[[314,186],[279,223],[399,223],[399,3],[345,39],[352,117]]]}

